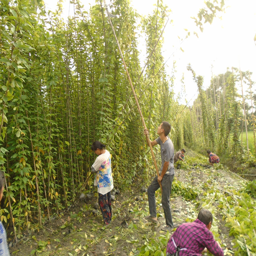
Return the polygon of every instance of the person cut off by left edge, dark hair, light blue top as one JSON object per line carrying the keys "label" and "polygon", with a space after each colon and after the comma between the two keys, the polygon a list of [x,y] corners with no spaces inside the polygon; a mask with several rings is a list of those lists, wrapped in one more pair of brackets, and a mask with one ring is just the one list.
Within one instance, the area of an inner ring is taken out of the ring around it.
{"label": "person cut off by left edge, dark hair, light blue top", "polygon": [[[5,186],[4,172],[0,170],[0,201],[2,200],[2,197],[3,197],[4,186]],[[0,221],[0,255],[10,256],[7,237],[6,237],[6,231],[1,221]]]}

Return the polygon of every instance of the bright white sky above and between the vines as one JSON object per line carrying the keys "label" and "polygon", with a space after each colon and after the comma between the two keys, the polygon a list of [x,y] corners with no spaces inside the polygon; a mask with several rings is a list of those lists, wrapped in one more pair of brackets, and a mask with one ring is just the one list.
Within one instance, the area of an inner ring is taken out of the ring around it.
{"label": "bright white sky above and between the vines", "polygon": [[[58,0],[44,0],[44,2],[46,10],[55,10]],[[80,2],[84,4],[85,10],[90,8],[90,4],[95,4],[95,0],[80,0]],[[106,0],[107,4],[109,2],[110,0]],[[152,14],[157,0],[130,0],[130,2],[139,14],[146,16]],[[186,99],[190,100],[189,105],[191,105],[197,97],[197,86],[193,82],[191,72],[186,70],[188,63],[197,75],[204,77],[204,88],[209,86],[212,72],[214,75],[224,73],[228,67],[232,66],[237,68],[240,66],[242,71],[250,70],[253,72],[252,81],[256,81],[255,0],[225,0],[227,6],[225,13],[219,13],[218,15],[222,17],[216,17],[211,25],[204,24],[203,33],[196,28],[194,20],[190,18],[196,16],[197,12],[205,6],[203,0],[163,0],[163,3],[171,9],[169,17],[173,22],[169,22],[165,28],[162,55],[167,60],[174,52],[167,62],[166,71],[171,75],[175,60],[174,92],[177,96],[180,91],[180,103],[185,103]],[[68,16],[69,6],[72,16],[73,5],[69,4],[69,0],[63,0],[64,19]],[[191,36],[181,44],[178,36],[185,38],[187,32],[184,29],[191,31]],[[193,35],[193,31],[198,32],[199,38]],[[140,37],[139,40],[140,60],[143,63],[146,58],[145,39]],[[183,73],[185,92],[180,82]],[[246,89],[244,88],[244,94]],[[254,93],[255,89],[253,88]]]}

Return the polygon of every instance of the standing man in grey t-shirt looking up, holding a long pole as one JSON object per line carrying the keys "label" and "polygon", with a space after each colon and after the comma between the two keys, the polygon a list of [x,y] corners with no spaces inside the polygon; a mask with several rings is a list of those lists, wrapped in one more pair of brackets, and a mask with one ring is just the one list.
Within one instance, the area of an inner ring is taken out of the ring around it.
{"label": "standing man in grey t-shirt looking up, holding a long pole", "polygon": [[[150,215],[146,216],[145,219],[147,221],[157,223],[155,191],[160,187],[161,184],[162,207],[163,212],[165,213],[166,221],[166,226],[161,228],[161,230],[163,231],[171,231],[174,228],[174,224],[172,222],[172,213],[170,209],[170,194],[174,177],[174,148],[171,139],[168,137],[170,130],[171,125],[168,122],[162,122],[157,128],[157,134],[159,135],[159,137],[154,141],[150,141],[152,146],[160,144],[162,164],[159,176],[156,176],[152,181],[151,185],[147,188],[148,207],[150,210]],[[148,134],[147,129],[144,129],[144,134]]]}

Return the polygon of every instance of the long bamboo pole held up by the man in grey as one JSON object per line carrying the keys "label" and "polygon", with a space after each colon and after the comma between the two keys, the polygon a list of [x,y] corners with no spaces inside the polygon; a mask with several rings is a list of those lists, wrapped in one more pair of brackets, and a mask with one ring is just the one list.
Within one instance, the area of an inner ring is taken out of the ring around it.
{"label": "long bamboo pole held up by the man in grey", "polygon": [[[130,85],[131,85],[132,93],[133,93],[134,99],[135,99],[135,101],[136,101],[136,105],[137,105],[138,111],[139,111],[139,113],[140,113],[140,117],[141,117],[141,120],[142,120],[143,127],[144,127],[144,129],[147,129],[146,124],[145,124],[145,122],[144,122],[143,115],[142,115],[142,113],[141,113],[141,109],[140,109],[140,105],[139,105],[139,102],[138,102],[136,93],[135,93],[135,91],[134,91],[134,88],[133,88],[133,85],[132,85],[132,82],[131,82],[131,78],[130,78],[128,69],[127,69],[126,64],[125,64],[125,60],[124,60],[124,57],[123,57],[123,53],[122,53],[122,51],[121,51],[121,48],[120,48],[120,45],[119,45],[119,43],[118,43],[118,40],[117,40],[117,37],[116,37],[116,33],[115,33],[115,30],[114,30],[113,24],[112,24],[111,19],[110,19],[110,15],[109,15],[108,7],[107,7],[107,5],[106,5],[106,1],[105,1],[105,0],[103,0],[103,1],[104,1],[104,5],[105,5],[105,8],[106,8],[108,17],[109,17],[109,23],[110,23],[110,25],[111,25],[111,28],[112,28],[114,37],[115,37],[115,39],[116,39],[116,43],[117,43],[117,46],[118,46],[118,49],[119,49],[121,58],[122,58],[123,63],[124,63],[125,71],[126,71],[126,74],[127,74],[128,80],[129,80],[129,83],[130,83]],[[150,151],[151,151],[151,154],[152,154],[152,157],[153,157],[153,160],[154,160],[154,165],[155,165],[155,168],[156,168],[157,176],[159,176],[159,171],[158,171],[158,168],[157,168],[157,163],[156,163],[155,154],[154,154],[152,145],[151,145],[151,143],[150,143],[150,138],[149,138],[149,135],[148,135],[148,134],[146,135],[146,141],[147,141],[147,144],[150,146]],[[160,184],[160,188],[161,188],[161,190],[162,190],[162,185],[161,185],[161,184]]]}

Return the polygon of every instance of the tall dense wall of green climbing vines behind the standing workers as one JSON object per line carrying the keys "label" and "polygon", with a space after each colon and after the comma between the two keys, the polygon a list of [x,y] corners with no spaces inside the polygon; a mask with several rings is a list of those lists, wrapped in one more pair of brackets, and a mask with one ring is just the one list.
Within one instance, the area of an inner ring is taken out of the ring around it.
{"label": "tall dense wall of green climbing vines behind the standing workers", "polygon": [[[141,169],[146,176],[153,174],[148,171],[152,162],[144,160],[140,117],[102,2],[89,13],[78,1],[71,6],[73,17],[65,23],[61,1],[56,12],[48,13],[41,1],[0,5],[0,164],[8,185],[0,215],[18,234],[38,228],[70,205],[90,175],[94,140],[106,143],[112,154],[116,186],[131,183]],[[155,127],[173,117],[162,39],[138,79],[138,15],[125,0],[112,7],[120,16],[113,25],[143,115],[148,127]],[[160,1],[155,13],[143,19],[148,54],[166,13]],[[86,189],[93,188],[92,182]]]}

